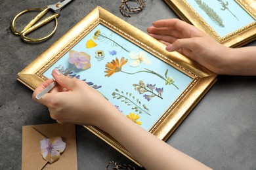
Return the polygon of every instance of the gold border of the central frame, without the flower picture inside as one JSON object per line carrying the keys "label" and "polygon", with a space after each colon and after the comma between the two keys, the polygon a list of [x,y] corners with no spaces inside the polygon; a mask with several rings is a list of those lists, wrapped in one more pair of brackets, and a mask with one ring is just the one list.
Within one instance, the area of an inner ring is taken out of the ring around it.
{"label": "gold border of the central frame, without the flower picture inside", "polygon": [[[47,79],[43,73],[51,67],[53,63],[58,61],[58,59],[62,58],[68,50],[75,46],[77,42],[83,39],[83,37],[98,24],[108,27],[108,29],[121,35],[121,37],[133,42],[133,44],[192,78],[192,81],[186,89],[179,95],[174,103],[170,104],[169,109],[161,115],[159,120],[149,130],[149,133],[166,141],[200,99],[202,99],[203,95],[205,95],[209,88],[215,83],[217,75],[191,59],[182,56],[178,52],[167,52],[164,44],[140,31],[133,25],[117,18],[117,16],[114,16],[114,14],[111,14],[101,7],[96,7],[92,10],[58,41],[54,42],[45,52],[20,71],[20,73],[18,73],[18,81],[28,86],[31,90],[35,90],[43,80]],[[93,126],[85,126],[85,128],[110,144],[110,146],[121,152],[121,154],[129,158],[129,160],[141,166],[133,155],[125,150],[125,148],[117,143],[110,135]]]}

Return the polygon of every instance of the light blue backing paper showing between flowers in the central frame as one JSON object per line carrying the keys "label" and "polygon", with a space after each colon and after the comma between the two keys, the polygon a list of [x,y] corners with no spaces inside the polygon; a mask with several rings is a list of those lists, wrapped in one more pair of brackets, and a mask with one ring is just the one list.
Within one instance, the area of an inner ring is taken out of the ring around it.
{"label": "light blue backing paper showing between flowers in the central frame", "polygon": [[[160,118],[161,114],[163,114],[171,106],[173,101],[175,101],[175,99],[177,99],[177,97],[182,93],[182,91],[186,89],[188,84],[190,84],[190,82],[192,81],[192,78],[184,75],[177,69],[174,69],[167,63],[161,61],[155,56],[152,56],[152,54],[149,54],[148,52],[147,56],[152,61],[151,65],[146,65],[142,63],[139,67],[129,66],[129,63],[132,61],[129,58],[129,52],[122,50],[119,46],[115,46],[113,43],[107,43],[93,39],[93,35],[97,29],[100,29],[101,33],[104,33],[104,35],[106,35],[107,37],[112,37],[114,41],[118,42],[124,48],[130,50],[131,52],[144,51],[139,46],[127,41],[127,39],[124,39],[120,35],[117,35],[110,29],[104,27],[104,25],[99,24],[88,35],[81,39],[81,41],[75,44],[75,46],[71,49],[77,52],[86,52],[87,54],[89,54],[91,56],[91,68],[85,71],[74,69],[73,72],[77,75],[80,75],[79,79],[81,80],[86,79],[87,82],[93,82],[97,86],[102,86],[102,88],[98,88],[97,90],[102,93],[106,98],[108,98],[113,105],[119,106],[119,110],[121,110],[125,115],[129,115],[130,112],[135,111],[131,109],[131,106],[127,106],[127,104],[121,102],[121,99],[114,99],[112,97],[112,93],[116,92],[116,89],[118,89],[120,92],[123,91],[124,93],[133,93],[133,95],[135,95],[135,99],[139,99],[141,101],[141,104],[145,104],[146,107],[150,109],[151,116],[146,114],[145,112],[142,112],[141,114],[135,112],[135,114],[139,114],[140,116],[138,121],[142,122],[141,126],[144,129],[149,130],[150,127],[154,123],[156,123],[158,118]],[[93,39],[93,41],[96,42],[97,46],[95,46],[94,48],[86,48],[85,44],[89,39]],[[96,50],[104,51],[105,58],[102,59],[102,61],[98,61],[95,58]],[[109,51],[112,50],[116,50],[116,56],[110,55]],[[128,59],[128,62],[123,65],[121,70],[129,73],[135,73],[136,71],[142,71],[144,70],[144,68],[147,68],[155,71],[156,73],[159,73],[161,76],[164,76],[166,69],[168,69],[169,72],[167,76],[172,76],[174,78],[175,84],[179,87],[179,90],[177,90],[177,88],[175,88],[175,86],[173,85],[165,85],[165,80],[161,79],[159,76],[150,73],[137,73],[135,75],[127,75],[125,73],[118,72],[114,73],[114,75],[110,77],[104,76],[106,75],[106,73],[104,73],[104,71],[106,71],[106,63],[116,58],[120,60],[121,57]],[[58,67],[58,65],[62,65],[65,68],[72,67],[72,64],[68,63],[68,58],[69,52],[64,54],[62,58],[56,61],[56,63],[54,63],[52,67],[47,69],[47,71],[45,71],[43,75],[51,78],[51,72],[55,67]],[[163,88],[163,99],[160,99],[159,97],[153,97],[150,101],[147,101],[143,97],[144,94],[140,95],[139,92],[135,91],[135,88],[133,87],[133,84],[139,84],[139,80],[142,80],[145,84],[156,84],[157,88]]]}

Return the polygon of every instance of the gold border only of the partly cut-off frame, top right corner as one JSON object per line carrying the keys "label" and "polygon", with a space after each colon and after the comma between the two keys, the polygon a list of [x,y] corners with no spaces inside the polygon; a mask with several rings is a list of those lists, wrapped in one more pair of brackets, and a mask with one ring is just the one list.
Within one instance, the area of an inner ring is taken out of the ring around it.
{"label": "gold border only of the partly cut-off frame, top right corner", "polygon": [[[247,12],[249,17],[254,19],[254,21],[250,22],[247,25],[241,25],[241,27],[239,29],[236,29],[235,31],[228,31],[228,33],[225,34],[224,36],[220,36],[217,33],[217,29],[213,28],[212,25],[209,25],[208,22],[206,22],[205,19],[203,19],[203,17],[195,9],[195,7],[190,6],[188,1],[186,0],[163,0],[163,1],[165,1],[165,3],[179,16],[179,18],[181,18],[182,20],[190,24],[195,25],[196,27],[198,27],[208,35],[211,35],[211,37],[213,37],[217,41],[221,42],[221,44],[224,44],[225,46],[240,47],[256,39],[256,10],[252,9],[243,0],[236,0],[232,3],[237,3],[241,9],[244,9],[245,12]],[[207,1],[207,3],[213,3],[213,2]],[[220,3],[218,1],[216,1],[215,3],[216,5],[220,6]],[[211,7],[212,6],[213,5],[211,5]],[[232,15],[230,14],[230,16]],[[229,19],[232,20],[234,18],[229,18]]]}

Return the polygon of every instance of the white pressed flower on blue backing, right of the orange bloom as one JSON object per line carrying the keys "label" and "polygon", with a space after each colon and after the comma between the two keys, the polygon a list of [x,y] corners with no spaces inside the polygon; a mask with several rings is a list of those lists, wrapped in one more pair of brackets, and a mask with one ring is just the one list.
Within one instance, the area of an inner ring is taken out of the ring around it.
{"label": "white pressed flower on blue backing, right of the orange bloom", "polygon": [[146,56],[146,52],[140,51],[140,52],[130,52],[129,57],[133,59],[131,61],[130,66],[131,67],[138,67],[140,63],[145,63],[147,65],[151,64],[150,59],[148,56]]}

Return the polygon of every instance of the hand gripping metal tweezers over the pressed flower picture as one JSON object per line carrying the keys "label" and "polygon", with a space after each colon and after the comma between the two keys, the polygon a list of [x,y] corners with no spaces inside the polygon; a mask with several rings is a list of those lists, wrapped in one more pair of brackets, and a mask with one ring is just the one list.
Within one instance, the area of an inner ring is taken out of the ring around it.
{"label": "hand gripping metal tweezers over the pressed flower picture", "polygon": [[41,99],[35,99],[37,93],[53,82],[53,79],[46,80],[35,89],[32,98],[37,103],[46,105],[51,118],[59,123],[100,126],[104,116],[108,114],[108,109],[114,107],[81,80],[64,76],[56,69],[53,70],[53,77],[59,85]]}

